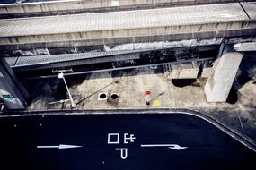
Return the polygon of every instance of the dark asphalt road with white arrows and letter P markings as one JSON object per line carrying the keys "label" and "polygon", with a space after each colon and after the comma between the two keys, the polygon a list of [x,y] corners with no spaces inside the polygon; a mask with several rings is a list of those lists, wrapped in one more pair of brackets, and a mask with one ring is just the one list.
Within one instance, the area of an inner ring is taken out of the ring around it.
{"label": "dark asphalt road with white arrows and letter P markings", "polygon": [[0,118],[0,169],[254,169],[256,153],[193,115]]}

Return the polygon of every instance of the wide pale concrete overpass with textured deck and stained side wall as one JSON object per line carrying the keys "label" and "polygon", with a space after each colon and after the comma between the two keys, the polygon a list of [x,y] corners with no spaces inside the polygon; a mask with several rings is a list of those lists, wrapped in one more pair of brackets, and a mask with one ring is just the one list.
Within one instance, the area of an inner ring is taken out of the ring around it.
{"label": "wide pale concrete overpass with textured deck and stained side wall", "polygon": [[234,3],[1,20],[0,50],[254,36],[255,13]]}

